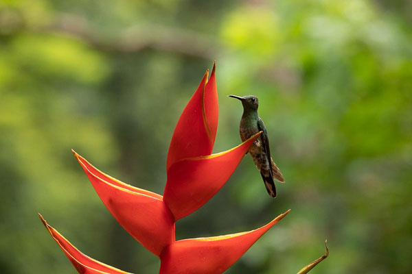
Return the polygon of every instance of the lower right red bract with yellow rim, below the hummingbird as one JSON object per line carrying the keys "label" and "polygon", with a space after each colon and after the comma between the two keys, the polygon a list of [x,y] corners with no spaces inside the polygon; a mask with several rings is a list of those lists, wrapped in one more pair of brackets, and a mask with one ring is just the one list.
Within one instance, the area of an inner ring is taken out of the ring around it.
{"label": "lower right red bract with yellow rim, below the hummingbird", "polygon": [[179,240],[161,253],[160,274],[220,274],[290,210],[250,232]]}

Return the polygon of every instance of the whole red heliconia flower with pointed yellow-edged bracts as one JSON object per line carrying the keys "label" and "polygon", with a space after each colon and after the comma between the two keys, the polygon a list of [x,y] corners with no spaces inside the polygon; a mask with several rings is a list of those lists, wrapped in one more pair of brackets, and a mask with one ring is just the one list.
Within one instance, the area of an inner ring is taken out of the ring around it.
{"label": "whole red heliconia flower with pointed yellow-edged bracts", "polygon": [[[222,273],[280,221],[250,232],[175,240],[174,223],[201,208],[222,188],[260,133],[222,153],[211,154],[218,126],[216,66],[205,73],[187,103],[170,142],[164,195],[130,186],[102,173],[73,151],[106,208],[146,249],[159,256],[159,273]],[[78,273],[126,273],[81,253],[40,215]]]}

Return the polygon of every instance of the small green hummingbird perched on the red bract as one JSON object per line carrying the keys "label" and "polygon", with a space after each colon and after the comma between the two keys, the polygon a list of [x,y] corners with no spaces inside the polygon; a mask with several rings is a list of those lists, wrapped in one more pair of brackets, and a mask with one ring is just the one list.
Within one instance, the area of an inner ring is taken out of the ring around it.
{"label": "small green hummingbird perched on the red bract", "polygon": [[275,179],[278,182],[284,183],[284,177],[277,168],[275,162],[271,158],[271,150],[269,149],[268,133],[262,119],[258,115],[259,100],[258,97],[247,95],[244,97],[229,95],[239,99],[243,105],[242,119],[240,119],[240,138],[242,142],[251,138],[251,136],[262,132],[258,139],[253,142],[249,148],[249,153],[255,162],[256,167],[262,175],[264,186],[271,197],[276,197]]}

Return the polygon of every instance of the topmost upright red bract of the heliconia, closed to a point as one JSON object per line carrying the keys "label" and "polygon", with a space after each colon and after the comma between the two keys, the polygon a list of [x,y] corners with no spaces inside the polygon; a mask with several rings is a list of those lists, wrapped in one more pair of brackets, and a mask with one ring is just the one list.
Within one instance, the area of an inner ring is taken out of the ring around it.
{"label": "topmost upright red bract of the heliconia, closed to a point", "polygon": [[218,126],[215,71],[214,66],[209,82],[209,71],[206,71],[177,122],[170,142],[167,169],[183,158],[211,154]]}

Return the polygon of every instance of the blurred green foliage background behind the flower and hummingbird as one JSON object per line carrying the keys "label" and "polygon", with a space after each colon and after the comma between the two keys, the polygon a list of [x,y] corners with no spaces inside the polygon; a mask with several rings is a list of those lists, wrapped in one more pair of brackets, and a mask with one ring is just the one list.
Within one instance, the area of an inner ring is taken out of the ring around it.
{"label": "blurred green foliage background behind the flower and hummingbird", "polygon": [[[223,3],[222,3],[223,2]],[[408,0],[0,3],[0,272],[75,273],[37,213],[133,273],[159,260],[120,227],[70,149],[163,193],[174,125],[217,61],[215,152],[256,95],[286,184],[249,156],[176,238],[275,225],[227,273],[411,273],[412,3]]]}

